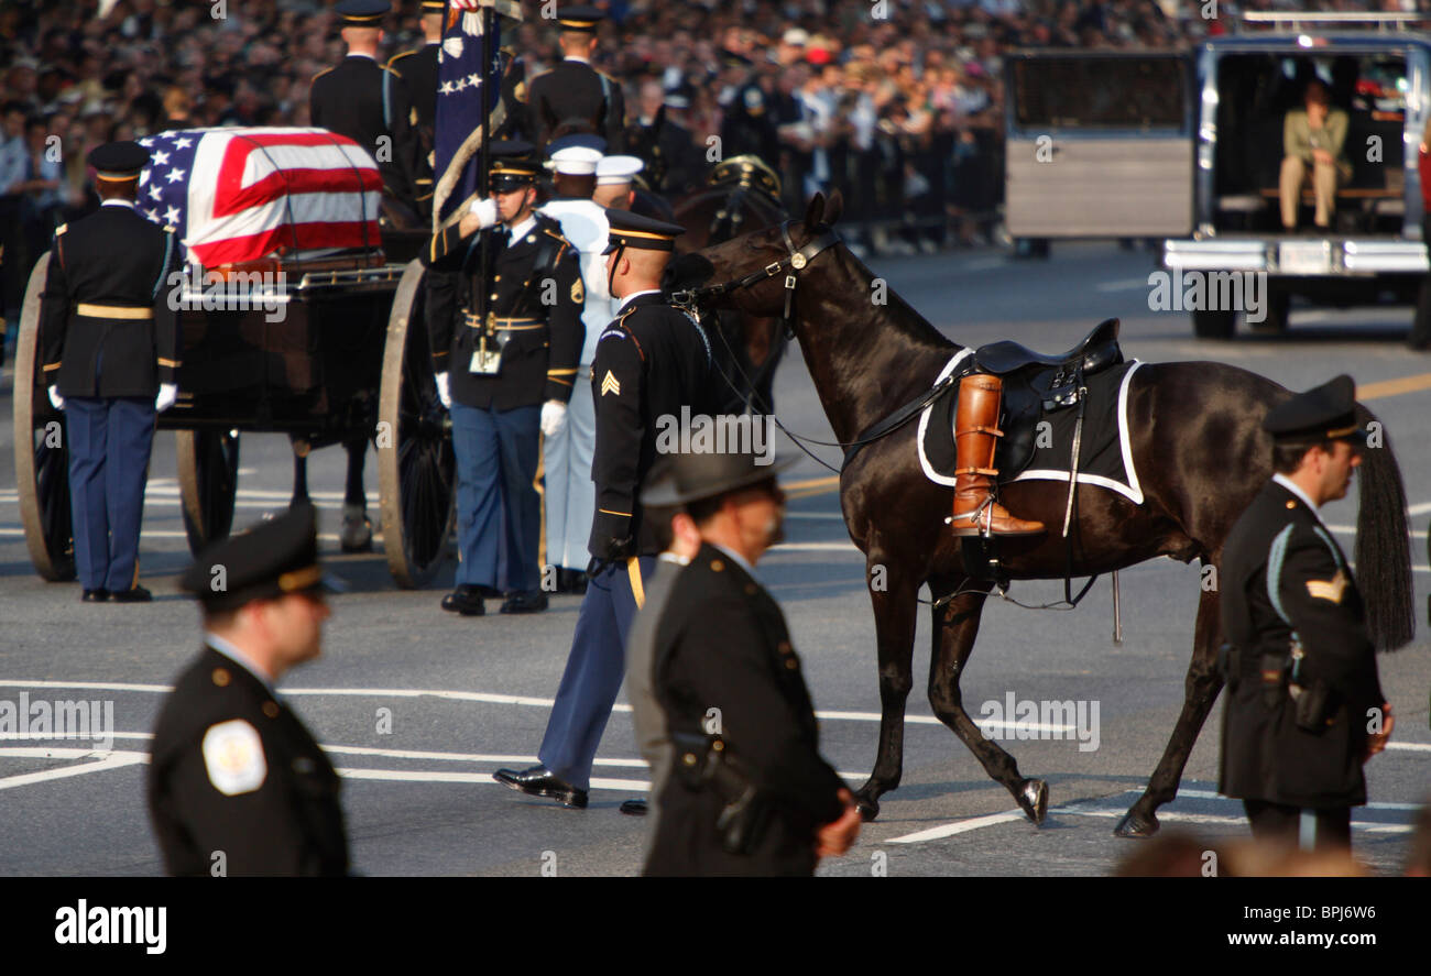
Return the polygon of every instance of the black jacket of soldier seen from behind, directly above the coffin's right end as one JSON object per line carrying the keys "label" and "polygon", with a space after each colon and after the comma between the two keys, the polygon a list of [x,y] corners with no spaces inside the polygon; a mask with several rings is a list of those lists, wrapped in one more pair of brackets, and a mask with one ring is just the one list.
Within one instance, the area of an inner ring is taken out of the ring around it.
{"label": "black jacket of soldier seen from behind, directly above the coffin's right end", "polygon": [[[388,122],[384,122],[385,89]],[[408,206],[415,205],[416,177],[425,163],[419,159],[422,153],[411,122],[412,99],[402,74],[371,57],[349,54],[313,76],[308,114],[315,126],[348,136],[368,150],[378,162],[388,192]],[[391,140],[391,152],[379,155],[384,136]]]}

